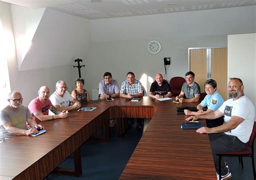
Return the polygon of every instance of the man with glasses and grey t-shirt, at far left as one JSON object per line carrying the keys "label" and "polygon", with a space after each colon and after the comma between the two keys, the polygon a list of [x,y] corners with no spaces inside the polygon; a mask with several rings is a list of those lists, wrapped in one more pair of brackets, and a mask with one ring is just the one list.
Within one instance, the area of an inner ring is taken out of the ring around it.
{"label": "man with glasses and grey t-shirt, at far left", "polygon": [[[23,98],[21,92],[10,92],[8,101],[9,105],[1,111],[0,142],[10,138],[14,134],[30,135],[38,133],[37,128],[44,128],[32,119],[28,107],[22,105]],[[32,128],[28,129],[26,123]]]}

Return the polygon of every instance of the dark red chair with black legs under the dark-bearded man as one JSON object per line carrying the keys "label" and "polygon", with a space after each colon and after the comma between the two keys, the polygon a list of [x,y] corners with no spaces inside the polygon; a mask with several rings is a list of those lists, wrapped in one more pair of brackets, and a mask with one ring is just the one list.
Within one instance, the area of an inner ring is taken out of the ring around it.
{"label": "dark red chair with black legs under the dark-bearded man", "polygon": [[[241,160],[242,168],[244,168],[244,164],[242,163],[242,157],[246,156],[246,157],[251,157],[251,159],[252,159],[253,177],[254,177],[254,179],[256,178],[256,176],[255,176],[255,165],[254,165],[254,147],[253,147],[254,146],[255,134],[256,134],[256,123],[254,122],[253,129],[252,129],[252,134],[250,136],[247,149],[240,150],[238,152],[225,152],[225,153],[216,154],[217,156],[219,156],[219,176],[221,175],[221,170],[220,170],[221,169],[221,163],[220,163],[221,156],[238,156],[239,161]],[[221,177],[219,177],[219,179],[221,179]]]}

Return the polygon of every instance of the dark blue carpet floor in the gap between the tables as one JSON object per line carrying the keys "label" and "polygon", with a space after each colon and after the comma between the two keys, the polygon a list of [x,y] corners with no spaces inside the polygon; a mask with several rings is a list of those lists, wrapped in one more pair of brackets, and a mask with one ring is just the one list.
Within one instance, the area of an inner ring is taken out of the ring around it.
{"label": "dark blue carpet floor in the gap between the tables", "polygon": [[[145,119],[144,129],[129,127],[120,140],[117,137],[117,128],[110,128],[110,142],[88,140],[81,146],[83,175],[69,177],[50,174],[50,179],[118,179],[136,148],[143,131],[150,119]],[[99,132],[97,134],[102,134]],[[73,156],[66,159],[60,167],[73,168]]]}

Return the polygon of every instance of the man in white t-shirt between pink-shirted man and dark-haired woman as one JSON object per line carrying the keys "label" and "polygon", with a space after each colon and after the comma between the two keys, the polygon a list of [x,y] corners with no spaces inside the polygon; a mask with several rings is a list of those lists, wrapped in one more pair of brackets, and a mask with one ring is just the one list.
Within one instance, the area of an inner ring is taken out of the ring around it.
{"label": "man in white t-shirt between pink-shirted man and dark-haired woman", "polygon": [[[66,91],[67,89],[64,81],[58,81],[56,83],[56,91],[50,96],[52,105],[55,106],[58,111],[76,110],[81,106],[80,102]],[[72,102],[73,105],[70,105],[70,102]]]}

